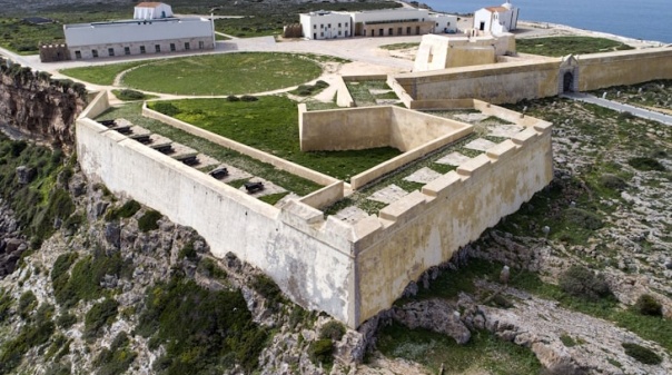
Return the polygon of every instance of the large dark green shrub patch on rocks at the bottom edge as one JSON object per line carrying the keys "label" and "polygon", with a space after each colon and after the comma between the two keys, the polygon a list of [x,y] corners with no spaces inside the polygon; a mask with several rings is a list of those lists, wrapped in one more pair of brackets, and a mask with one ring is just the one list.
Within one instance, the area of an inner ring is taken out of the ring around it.
{"label": "large dark green shrub patch on rocks at the bottom edge", "polygon": [[239,290],[208,290],[175,277],[147,292],[137,333],[165,345],[155,364],[160,374],[223,373],[236,364],[250,373],[268,337]]}

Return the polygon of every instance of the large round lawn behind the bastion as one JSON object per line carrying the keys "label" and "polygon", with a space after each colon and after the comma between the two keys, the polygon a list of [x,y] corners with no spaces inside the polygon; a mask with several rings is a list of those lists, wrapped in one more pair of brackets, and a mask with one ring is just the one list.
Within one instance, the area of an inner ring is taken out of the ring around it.
{"label": "large round lawn behind the bastion", "polygon": [[297,86],[320,72],[299,55],[241,52],[154,61],[127,72],[123,85],[178,95],[239,95]]}

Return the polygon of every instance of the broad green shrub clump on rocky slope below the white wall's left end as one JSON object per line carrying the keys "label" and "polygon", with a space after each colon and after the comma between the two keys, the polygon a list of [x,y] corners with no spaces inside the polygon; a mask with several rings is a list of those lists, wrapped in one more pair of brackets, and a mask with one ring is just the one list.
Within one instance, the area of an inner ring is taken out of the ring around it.
{"label": "broad green shrub clump on rocky slope below the white wall's left end", "polygon": [[76,257],[75,253],[59,256],[51,273],[56,300],[66,308],[75,306],[80,299],[100,298],[105,294],[100,286],[105,275],[128,277],[131,273],[129,264],[121,259],[119,253],[108,255],[103,250],[95,249],[92,255],[77,261],[69,275],[67,270]]}

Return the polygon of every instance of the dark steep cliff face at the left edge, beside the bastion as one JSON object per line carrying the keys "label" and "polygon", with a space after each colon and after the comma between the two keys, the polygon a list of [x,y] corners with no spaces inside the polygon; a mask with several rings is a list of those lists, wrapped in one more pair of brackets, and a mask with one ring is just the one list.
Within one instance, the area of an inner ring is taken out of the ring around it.
{"label": "dark steep cliff face at the left edge, beside the bastion", "polygon": [[68,152],[75,145],[75,120],[85,106],[81,83],[53,80],[46,72],[0,59],[0,127],[11,136]]}

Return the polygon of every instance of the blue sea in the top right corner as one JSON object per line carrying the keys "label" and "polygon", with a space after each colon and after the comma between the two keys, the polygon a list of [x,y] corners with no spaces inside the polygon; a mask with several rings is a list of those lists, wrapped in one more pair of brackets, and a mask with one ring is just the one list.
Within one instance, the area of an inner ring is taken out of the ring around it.
{"label": "blue sea in the top right corner", "polygon": [[[473,13],[506,0],[418,0],[436,11]],[[672,43],[670,0],[511,0],[520,19]]]}

